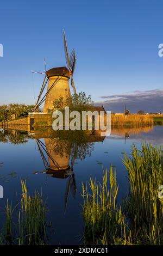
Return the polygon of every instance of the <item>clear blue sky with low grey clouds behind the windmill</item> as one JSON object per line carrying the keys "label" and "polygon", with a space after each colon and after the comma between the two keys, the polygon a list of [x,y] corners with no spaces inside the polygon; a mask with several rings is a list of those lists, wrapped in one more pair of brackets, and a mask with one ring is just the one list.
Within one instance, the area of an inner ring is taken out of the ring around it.
{"label": "clear blue sky with low grey clouds behind the windmill", "polygon": [[[77,54],[77,92],[92,95],[106,110],[163,112],[162,0],[55,1],[0,3],[0,105],[34,104],[43,75],[32,71],[65,66]],[[150,103],[151,102],[151,103]]]}

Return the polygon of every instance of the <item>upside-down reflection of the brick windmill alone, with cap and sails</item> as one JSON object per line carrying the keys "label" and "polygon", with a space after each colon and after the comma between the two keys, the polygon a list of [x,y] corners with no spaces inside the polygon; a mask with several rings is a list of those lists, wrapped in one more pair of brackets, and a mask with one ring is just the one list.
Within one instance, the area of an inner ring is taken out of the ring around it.
{"label": "upside-down reflection of the brick windmill alone, with cap and sails", "polygon": [[[43,164],[45,166],[45,172],[47,175],[51,175],[53,178],[67,179],[66,192],[65,192],[65,213],[67,209],[68,196],[70,191],[72,196],[75,197],[77,192],[75,174],[73,172],[74,157],[70,157],[70,154],[66,152],[65,141],[62,144],[62,152],[58,151],[58,140],[52,138],[45,138],[45,144],[36,139],[37,146],[39,148]],[[46,158],[47,157],[47,158]],[[71,158],[71,161],[70,161]],[[48,160],[47,160],[48,159]]]}

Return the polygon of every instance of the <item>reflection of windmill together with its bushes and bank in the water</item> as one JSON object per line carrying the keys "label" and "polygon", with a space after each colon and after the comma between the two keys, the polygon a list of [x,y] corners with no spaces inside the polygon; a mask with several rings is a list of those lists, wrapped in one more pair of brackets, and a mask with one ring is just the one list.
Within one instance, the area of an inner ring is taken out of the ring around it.
{"label": "reflection of windmill together with its bushes and bank in the water", "polygon": [[[65,213],[67,209],[68,196],[71,191],[73,198],[76,196],[77,185],[73,171],[76,159],[84,160],[91,156],[94,143],[103,141],[104,137],[99,132],[55,132],[50,138],[35,138],[45,170],[38,173],[46,173],[57,179],[67,179],[65,190]],[[75,134],[74,134],[75,133]],[[37,135],[38,136],[38,135]],[[40,135],[39,135],[40,136]]]}

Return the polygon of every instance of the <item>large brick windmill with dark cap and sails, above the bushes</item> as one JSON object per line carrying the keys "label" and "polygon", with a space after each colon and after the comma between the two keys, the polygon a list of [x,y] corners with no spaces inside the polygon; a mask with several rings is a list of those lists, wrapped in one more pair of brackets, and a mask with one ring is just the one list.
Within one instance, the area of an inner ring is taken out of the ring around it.
{"label": "large brick windmill with dark cap and sails, above the bushes", "polygon": [[[34,107],[34,112],[36,111],[37,108],[40,107],[40,105],[43,102],[45,102],[45,105],[43,107],[43,113],[51,113],[54,109],[54,106],[53,106],[54,100],[59,99],[60,96],[62,96],[63,100],[65,101],[66,97],[71,95],[70,87],[68,83],[69,79],[71,79],[71,86],[73,88],[73,93],[76,94],[76,87],[74,86],[74,81],[73,81],[74,68],[76,65],[76,53],[73,49],[69,57],[65,31],[64,31],[64,49],[65,49],[65,58],[66,58],[67,67],[61,66],[59,68],[52,68],[52,69],[46,70],[45,73],[35,72],[39,74],[45,74],[45,78],[43,80],[40,94],[38,96],[36,105]],[[46,68],[46,63],[45,63],[45,68]],[[48,82],[47,92],[41,98],[47,82]]]}

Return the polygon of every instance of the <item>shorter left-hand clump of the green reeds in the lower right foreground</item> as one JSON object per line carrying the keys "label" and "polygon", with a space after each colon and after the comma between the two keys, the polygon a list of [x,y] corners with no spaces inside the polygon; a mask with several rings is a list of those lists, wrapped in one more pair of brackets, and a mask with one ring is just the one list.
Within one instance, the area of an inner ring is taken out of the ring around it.
{"label": "shorter left-hand clump of the green reeds in the lower right foreground", "polygon": [[[109,179],[108,179],[109,176]],[[131,243],[126,218],[117,207],[116,173],[105,170],[102,183],[90,178],[83,184],[84,243],[93,245],[127,245]]]}

